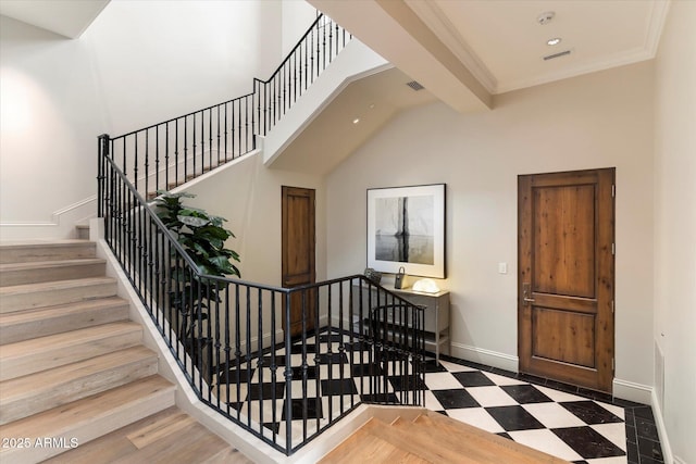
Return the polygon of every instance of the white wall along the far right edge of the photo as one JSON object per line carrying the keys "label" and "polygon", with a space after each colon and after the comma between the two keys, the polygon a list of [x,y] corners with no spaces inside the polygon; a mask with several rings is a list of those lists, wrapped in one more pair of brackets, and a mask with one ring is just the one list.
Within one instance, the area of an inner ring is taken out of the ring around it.
{"label": "white wall along the far right edge of the photo", "polygon": [[664,354],[661,412],[669,443],[662,437],[662,444],[671,444],[681,463],[696,463],[694,25],[696,3],[673,1],[656,66],[655,340]]}

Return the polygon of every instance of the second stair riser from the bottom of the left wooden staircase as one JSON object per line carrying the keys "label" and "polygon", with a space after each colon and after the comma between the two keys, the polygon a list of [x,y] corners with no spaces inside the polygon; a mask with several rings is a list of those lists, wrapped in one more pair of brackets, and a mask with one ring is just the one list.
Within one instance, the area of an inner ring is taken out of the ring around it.
{"label": "second stair riser from the bottom of the left wooden staircase", "polygon": [[50,389],[34,391],[32,397],[3,401],[0,425],[154,375],[157,371],[157,356],[152,354],[149,358],[110,366],[107,371],[89,373],[63,385],[53,385]]}

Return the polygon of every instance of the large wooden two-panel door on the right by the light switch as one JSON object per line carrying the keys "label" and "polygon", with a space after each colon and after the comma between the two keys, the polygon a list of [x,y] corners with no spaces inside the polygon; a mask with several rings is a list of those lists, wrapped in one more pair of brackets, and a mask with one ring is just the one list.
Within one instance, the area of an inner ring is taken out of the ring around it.
{"label": "large wooden two-panel door on the right by the light switch", "polygon": [[518,178],[520,372],[611,392],[614,168]]}

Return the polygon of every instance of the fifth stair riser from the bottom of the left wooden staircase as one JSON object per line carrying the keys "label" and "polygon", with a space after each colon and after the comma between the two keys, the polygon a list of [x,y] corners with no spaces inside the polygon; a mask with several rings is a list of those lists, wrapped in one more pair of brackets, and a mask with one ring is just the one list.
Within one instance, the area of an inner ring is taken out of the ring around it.
{"label": "fifth stair riser from the bottom of the left wooden staircase", "polygon": [[7,293],[0,298],[0,314],[13,311],[36,310],[57,304],[107,298],[116,294],[116,283],[86,284],[80,287],[53,288],[34,292]]}

